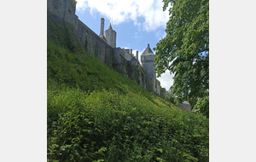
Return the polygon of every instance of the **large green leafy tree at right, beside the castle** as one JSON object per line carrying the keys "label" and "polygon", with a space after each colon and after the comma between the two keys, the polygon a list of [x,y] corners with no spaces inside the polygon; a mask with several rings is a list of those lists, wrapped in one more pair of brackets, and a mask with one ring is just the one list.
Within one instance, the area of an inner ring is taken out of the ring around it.
{"label": "large green leafy tree at right, beside the castle", "polygon": [[156,44],[155,72],[174,73],[178,101],[192,107],[209,96],[209,0],[163,0],[170,20],[166,38]]}

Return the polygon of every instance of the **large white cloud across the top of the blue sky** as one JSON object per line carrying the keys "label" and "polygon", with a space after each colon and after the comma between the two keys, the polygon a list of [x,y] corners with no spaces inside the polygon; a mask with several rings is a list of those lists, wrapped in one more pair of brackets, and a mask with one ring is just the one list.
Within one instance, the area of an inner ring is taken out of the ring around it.
{"label": "large white cloud across the top of the blue sky", "polygon": [[[113,19],[113,24],[119,24],[126,20],[133,20],[134,25],[143,30],[150,32],[158,27],[166,27],[169,20],[168,9],[163,11],[162,0],[77,0],[77,9],[83,12],[85,9],[90,10],[93,15],[94,11],[105,15],[108,20]],[[143,22],[139,22],[143,18]]]}

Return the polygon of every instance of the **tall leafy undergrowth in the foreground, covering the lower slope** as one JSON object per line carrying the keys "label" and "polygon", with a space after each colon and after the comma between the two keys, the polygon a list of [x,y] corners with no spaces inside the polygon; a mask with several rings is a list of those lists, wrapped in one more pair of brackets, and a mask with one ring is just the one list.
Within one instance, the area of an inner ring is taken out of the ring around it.
{"label": "tall leafy undergrowth in the foreground, covering the lower slope", "polygon": [[48,106],[49,160],[208,160],[208,120],[200,115],[118,90],[67,88]]}

